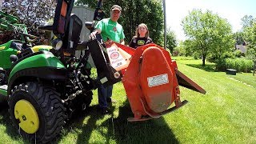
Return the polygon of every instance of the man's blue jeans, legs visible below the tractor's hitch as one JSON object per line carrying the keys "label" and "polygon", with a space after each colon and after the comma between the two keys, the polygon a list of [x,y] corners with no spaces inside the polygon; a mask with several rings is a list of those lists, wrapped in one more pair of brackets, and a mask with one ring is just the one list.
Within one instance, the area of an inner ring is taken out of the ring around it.
{"label": "man's blue jeans, legs visible below the tractor's hitch", "polygon": [[101,108],[107,107],[106,98],[111,98],[113,85],[104,87],[103,85],[98,87],[98,104]]}

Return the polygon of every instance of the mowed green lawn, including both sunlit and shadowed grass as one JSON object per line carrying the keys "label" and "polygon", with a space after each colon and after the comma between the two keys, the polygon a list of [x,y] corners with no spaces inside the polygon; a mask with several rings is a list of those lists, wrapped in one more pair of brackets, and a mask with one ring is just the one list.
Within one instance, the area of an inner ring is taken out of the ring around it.
{"label": "mowed green lawn, including both sunlit and shadowed grass", "polygon": [[[256,143],[256,76],[215,72],[201,60],[176,58],[178,70],[202,86],[199,94],[181,86],[188,104],[162,118],[127,122],[132,117],[122,83],[114,85],[112,114],[96,109],[97,91],[90,110],[66,124],[52,143]],[[11,127],[6,109],[0,110],[0,143],[29,143]]]}

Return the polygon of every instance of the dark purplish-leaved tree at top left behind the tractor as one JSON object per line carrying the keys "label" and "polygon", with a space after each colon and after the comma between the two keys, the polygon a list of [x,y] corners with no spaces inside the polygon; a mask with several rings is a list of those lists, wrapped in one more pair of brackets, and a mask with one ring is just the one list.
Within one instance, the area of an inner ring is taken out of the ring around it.
{"label": "dark purplish-leaved tree at top left behind the tractor", "polygon": [[30,34],[38,33],[38,26],[54,18],[55,0],[3,0],[2,11],[19,18]]}

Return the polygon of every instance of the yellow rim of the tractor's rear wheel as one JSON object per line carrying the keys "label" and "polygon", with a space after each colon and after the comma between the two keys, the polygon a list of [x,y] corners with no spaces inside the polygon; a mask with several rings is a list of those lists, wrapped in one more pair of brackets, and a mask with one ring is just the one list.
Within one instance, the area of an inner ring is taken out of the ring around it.
{"label": "yellow rim of the tractor's rear wheel", "polygon": [[19,100],[14,106],[14,116],[19,120],[18,126],[27,134],[34,134],[38,131],[38,113],[29,101],[25,99]]}

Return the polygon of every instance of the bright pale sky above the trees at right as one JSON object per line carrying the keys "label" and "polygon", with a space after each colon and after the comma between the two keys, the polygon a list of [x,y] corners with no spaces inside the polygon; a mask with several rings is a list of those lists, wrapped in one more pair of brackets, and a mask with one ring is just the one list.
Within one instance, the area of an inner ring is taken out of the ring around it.
{"label": "bright pale sky above the trees at right", "polygon": [[233,32],[242,28],[241,18],[252,15],[256,18],[256,0],[166,0],[167,27],[174,30],[178,40],[185,40],[182,30],[182,18],[193,9],[204,12],[211,10],[222,18],[226,18],[232,26]]}

